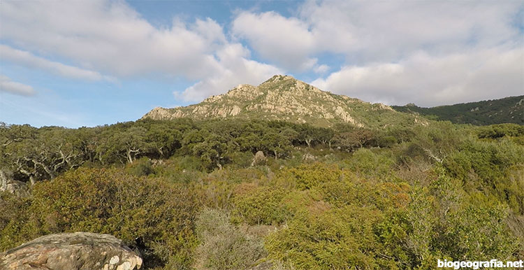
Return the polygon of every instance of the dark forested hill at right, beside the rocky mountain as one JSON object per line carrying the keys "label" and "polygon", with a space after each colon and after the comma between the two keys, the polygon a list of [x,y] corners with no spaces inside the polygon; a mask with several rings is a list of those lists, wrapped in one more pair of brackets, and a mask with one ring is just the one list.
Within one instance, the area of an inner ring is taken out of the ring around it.
{"label": "dark forested hill at right, beside the rocky mountain", "polygon": [[425,115],[435,120],[449,120],[457,124],[493,125],[514,123],[524,125],[524,96],[433,108],[422,108],[414,104],[392,107],[396,111]]}

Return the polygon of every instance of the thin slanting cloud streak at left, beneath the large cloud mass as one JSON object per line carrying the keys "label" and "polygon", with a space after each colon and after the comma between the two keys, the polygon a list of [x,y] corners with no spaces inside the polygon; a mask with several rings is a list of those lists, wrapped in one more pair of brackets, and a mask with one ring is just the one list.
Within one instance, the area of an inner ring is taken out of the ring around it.
{"label": "thin slanting cloud streak at left, beneath the large cloud mass", "polygon": [[10,62],[15,62],[17,64],[22,64],[30,68],[43,69],[45,71],[51,71],[60,76],[66,78],[75,78],[81,80],[115,80],[109,76],[103,76],[99,72],[89,71],[86,69],[80,69],[76,66],[68,66],[66,64],[61,64],[60,62],[53,62],[42,57],[37,57],[31,52],[26,52],[22,50],[16,50],[10,48],[7,45],[0,44],[0,59],[7,60]]}

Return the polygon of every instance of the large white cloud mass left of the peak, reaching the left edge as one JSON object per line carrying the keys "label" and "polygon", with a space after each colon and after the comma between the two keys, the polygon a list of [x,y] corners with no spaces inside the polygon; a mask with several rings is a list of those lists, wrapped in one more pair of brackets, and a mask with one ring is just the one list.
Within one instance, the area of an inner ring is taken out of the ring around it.
{"label": "large white cloud mass left of the peak, reaching the left edge", "polygon": [[5,60],[73,78],[99,80],[101,74],[108,74],[125,80],[154,75],[197,81],[180,96],[186,101],[279,71],[247,59],[245,48],[226,57],[238,45],[230,43],[221,25],[210,18],[191,23],[175,18],[171,25],[154,27],[126,3],[105,0],[8,1],[2,4],[0,17],[0,38],[23,49],[2,45]]}

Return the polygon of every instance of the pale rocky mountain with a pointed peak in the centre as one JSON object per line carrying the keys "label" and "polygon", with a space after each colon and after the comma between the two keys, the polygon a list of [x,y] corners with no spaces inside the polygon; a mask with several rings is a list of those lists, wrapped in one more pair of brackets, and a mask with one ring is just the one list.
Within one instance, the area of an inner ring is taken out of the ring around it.
{"label": "pale rocky mountain with a pointed peak in the centre", "polygon": [[286,120],[330,127],[339,123],[357,127],[425,125],[419,115],[400,113],[384,104],[319,90],[291,76],[276,75],[259,86],[238,85],[226,94],[199,104],[177,108],[154,108],[143,116],[155,120],[173,118],[249,118]]}

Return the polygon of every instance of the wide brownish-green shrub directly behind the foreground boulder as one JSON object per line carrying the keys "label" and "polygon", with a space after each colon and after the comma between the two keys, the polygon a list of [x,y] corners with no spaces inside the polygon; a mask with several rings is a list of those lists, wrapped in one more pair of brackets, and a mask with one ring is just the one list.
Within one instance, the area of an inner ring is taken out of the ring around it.
{"label": "wide brownish-green shrub directly behind the foreground boulder", "polygon": [[[29,222],[20,232],[112,234],[131,245],[143,241],[145,267],[168,261],[189,267],[196,246],[196,195],[159,178],[136,178],[121,171],[78,169],[34,185]],[[15,232],[16,233],[16,232]],[[31,239],[20,238],[23,241]],[[12,247],[12,246],[11,246]]]}

